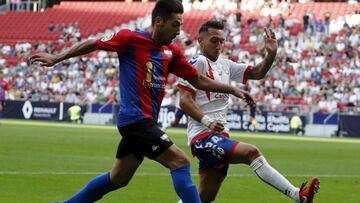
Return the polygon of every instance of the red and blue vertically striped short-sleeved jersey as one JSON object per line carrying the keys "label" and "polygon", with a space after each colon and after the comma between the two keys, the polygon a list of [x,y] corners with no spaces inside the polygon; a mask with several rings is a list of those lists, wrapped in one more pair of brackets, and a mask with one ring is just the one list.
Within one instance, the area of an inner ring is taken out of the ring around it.
{"label": "red and blue vertically striped short-sleeved jersey", "polygon": [[116,51],[120,61],[119,127],[145,118],[157,122],[169,73],[185,80],[199,74],[175,43],[160,46],[143,30],[124,29],[96,44],[99,49]]}

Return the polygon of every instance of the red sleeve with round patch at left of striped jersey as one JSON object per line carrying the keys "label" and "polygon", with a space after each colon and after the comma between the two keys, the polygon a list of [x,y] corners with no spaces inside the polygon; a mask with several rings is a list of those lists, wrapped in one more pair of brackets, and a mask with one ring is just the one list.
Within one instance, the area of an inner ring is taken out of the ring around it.
{"label": "red sleeve with round patch at left of striped jersey", "polygon": [[117,33],[108,33],[96,40],[96,45],[101,50],[122,53],[129,44],[131,35],[132,32],[128,29],[120,30]]}

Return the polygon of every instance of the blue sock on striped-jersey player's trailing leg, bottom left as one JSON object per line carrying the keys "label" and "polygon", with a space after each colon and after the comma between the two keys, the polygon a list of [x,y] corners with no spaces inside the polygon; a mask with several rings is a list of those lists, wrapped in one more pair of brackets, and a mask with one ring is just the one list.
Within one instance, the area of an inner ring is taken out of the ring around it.
{"label": "blue sock on striped-jersey player's trailing leg, bottom left", "polygon": [[83,189],[65,203],[93,203],[117,188],[110,181],[110,173],[92,179]]}

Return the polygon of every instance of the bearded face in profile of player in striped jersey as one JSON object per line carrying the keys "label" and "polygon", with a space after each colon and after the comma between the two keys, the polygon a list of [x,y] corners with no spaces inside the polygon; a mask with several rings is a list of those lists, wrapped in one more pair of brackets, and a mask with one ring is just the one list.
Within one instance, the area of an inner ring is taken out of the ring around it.
{"label": "bearded face in profile of player in striped jersey", "polygon": [[169,45],[180,34],[182,14],[173,13],[170,18],[162,20],[159,26],[159,39],[162,45]]}

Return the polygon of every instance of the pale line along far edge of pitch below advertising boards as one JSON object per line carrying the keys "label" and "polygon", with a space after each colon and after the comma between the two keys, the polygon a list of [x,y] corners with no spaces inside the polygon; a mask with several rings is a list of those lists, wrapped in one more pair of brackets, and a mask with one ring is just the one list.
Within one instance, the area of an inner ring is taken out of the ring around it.
{"label": "pale line along far edge of pitch below advertising boards", "polygon": [[[56,122],[43,122],[43,121],[19,121],[19,120],[2,120],[3,124],[10,125],[26,125],[26,126],[48,126],[48,127],[66,127],[66,128],[86,128],[86,129],[101,129],[101,130],[112,130],[116,131],[116,126],[104,126],[104,125],[86,125],[86,124],[71,124],[71,123],[56,123]],[[170,132],[180,132],[186,137],[185,129],[170,128],[167,130]],[[302,137],[302,136],[291,136],[281,134],[266,134],[266,133],[244,133],[239,131],[230,132],[231,137],[243,137],[253,139],[269,139],[269,140],[290,140],[290,141],[307,141],[307,142],[325,142],[325,143],[346,143],[346,144],[360,144],[360,139],[357,138],[322,138],[322,137]],[[175,136],[174,136],[175,137]]]}

